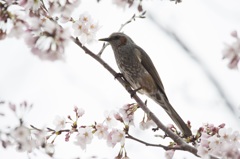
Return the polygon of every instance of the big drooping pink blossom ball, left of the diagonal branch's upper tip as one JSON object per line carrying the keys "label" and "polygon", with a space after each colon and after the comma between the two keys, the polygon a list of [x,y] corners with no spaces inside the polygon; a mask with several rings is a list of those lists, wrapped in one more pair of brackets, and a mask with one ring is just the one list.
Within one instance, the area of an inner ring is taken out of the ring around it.
{"label": "big drooping pink blossom ball, left of the diagonal branch's upper tip", "polygon": [[[40,25],[40,22],[35,25]],[[41,29],[39,28],[36,32],[29,31],[25,34],[25,41],[32,53],[40,59],[57,60],[63,58],[65,47],[70,39],[68,30],[48,19],[43,19],[40,26]],[[39,30],[42,32],[39,33]]]}

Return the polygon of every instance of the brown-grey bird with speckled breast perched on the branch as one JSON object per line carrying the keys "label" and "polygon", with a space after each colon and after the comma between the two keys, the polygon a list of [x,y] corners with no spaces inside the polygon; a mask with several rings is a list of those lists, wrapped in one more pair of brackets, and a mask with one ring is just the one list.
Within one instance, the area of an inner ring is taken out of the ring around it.
{"label": "brown-grey bird with speckled breast perched on the branch", "polygon": [[114,32],[108,38],[102,38],[99,41],[105,41],[111,45],[117,66],[133,90],[145,94],[159,104],[184,137],[192,136],[190,128],[170,104],[160,76],[148,54],[122,32]]}

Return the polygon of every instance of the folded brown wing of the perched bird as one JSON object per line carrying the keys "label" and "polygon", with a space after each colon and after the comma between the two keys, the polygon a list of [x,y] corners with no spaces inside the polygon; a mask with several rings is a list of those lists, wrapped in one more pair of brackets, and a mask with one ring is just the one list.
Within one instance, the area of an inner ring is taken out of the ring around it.
{"label": "folded brown wing of the perched bird", "polygon": [[[156,82],[160,92],[166,96],[162,81],[161,81],[161,79],[158,75],[158,72],[157,72],[156,68],[154,67],[153,62],[150,59],[150,57],[147,55],[147,53],[142,48],[140,48],[137,45],[136,45],[136,49],[134,51],[137,55],[138,60],[141,62],[143,67],[148,71],[148,73],[152,76],[153,80]],[[166,96],[166,98],[167,98],[167,96]]]}

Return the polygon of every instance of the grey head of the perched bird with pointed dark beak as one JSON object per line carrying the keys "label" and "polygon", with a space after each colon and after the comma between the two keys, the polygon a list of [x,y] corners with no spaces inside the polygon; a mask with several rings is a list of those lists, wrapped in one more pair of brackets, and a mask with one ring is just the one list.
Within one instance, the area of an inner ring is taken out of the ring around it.
{"label": "grey head of the perched bird with pointed dark beak", "polygon": [[120,32],[112,33],[108,38],[99,39],[99,41],[109,42],[112,47],[120,47],[128,43],[133,43],[129,36]]}

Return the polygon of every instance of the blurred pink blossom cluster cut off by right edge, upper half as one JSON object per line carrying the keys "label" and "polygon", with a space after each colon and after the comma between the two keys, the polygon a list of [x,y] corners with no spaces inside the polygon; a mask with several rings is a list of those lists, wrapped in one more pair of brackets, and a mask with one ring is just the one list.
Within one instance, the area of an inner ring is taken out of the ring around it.
{"label": "blurred pink blossom cluster cut off by right edge, upper half", "polygon": [[229,60],[230,69],[238,68],[240,60],[240,38],[237,31],[233,31],[231,36],[235,39],[232,44],[226,44],[223,50],[223,58]]}

